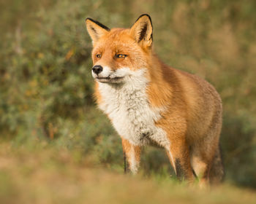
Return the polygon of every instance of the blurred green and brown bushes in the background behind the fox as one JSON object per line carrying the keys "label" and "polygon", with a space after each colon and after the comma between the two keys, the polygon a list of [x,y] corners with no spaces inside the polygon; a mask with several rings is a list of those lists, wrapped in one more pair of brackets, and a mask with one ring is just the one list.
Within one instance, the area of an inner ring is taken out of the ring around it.
{"label": "blurred green and brown bushes in the background behind the fox", "polygon": [[[129,27],[148,13],[159,58],[208,80],[222,97],[226,181],[256,188],[255,11],[254,0],[0,1],[1,154],[20,149],[14,157],[26,160],[57,149],[121,173],[121,139],[92,98],[85,19]],[[165,152],[145,148],[141,172],[172,173]]]}

